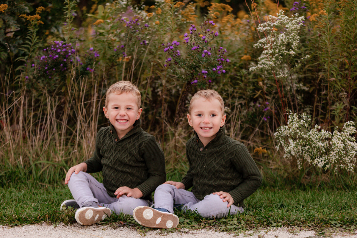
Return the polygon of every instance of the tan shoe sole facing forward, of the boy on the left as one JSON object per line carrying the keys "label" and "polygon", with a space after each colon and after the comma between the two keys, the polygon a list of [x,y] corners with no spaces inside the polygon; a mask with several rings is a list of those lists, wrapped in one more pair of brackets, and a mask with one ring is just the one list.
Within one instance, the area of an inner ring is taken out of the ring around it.
{"label": "tan shoe sole facing forward, of the boy on the left", "polygon": [[110,217],[110,209],[107,207],[82,207],[75,213],[76,221],[84,226],[90,226]]}

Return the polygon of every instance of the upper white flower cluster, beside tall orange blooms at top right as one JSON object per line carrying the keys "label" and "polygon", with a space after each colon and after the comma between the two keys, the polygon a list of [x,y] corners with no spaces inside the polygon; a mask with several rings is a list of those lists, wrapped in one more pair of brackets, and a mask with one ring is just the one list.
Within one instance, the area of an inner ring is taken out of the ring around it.
{"label": "upper white flower cluster, beside tall orange blooms at top right", "polygon": [[252,65],[249,70],[270,72],[275,69],[278,78],[287,77],[289,70],[286,60],[299,52],[298,33],[305,17],[288,17],[280,10],[277,16],[269,15],[265,18],[267,21],[257,26],[257,29],[264,32],[266,37],[254,45],[255,48],[263,48],[263,52],[258,58],[258,65]]}

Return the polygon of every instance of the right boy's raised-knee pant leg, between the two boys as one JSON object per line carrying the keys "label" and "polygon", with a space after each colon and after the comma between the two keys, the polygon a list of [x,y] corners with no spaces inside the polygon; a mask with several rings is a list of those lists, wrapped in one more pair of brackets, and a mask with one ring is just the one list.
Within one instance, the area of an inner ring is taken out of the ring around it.
{"label": "right boy's raised-knee pant leg, between the two boys", "polygon": [[174,204],[198,203],[199,201],[192,192],[166,183],[157,187],[154,194],[155,208],[164,208],[170,213],[174,213]]}

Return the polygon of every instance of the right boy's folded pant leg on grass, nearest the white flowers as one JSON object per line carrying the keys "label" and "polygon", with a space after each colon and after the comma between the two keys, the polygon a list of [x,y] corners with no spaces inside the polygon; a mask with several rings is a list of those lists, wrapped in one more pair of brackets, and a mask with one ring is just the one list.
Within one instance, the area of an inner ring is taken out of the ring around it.
{"label": "right boy's folded pant leg on grass, nearest the white flowers", "polygon": [[193,211],[200,214],[200,216],[209,219],[222,218],[226,217],[228,214],[233,215],[238,212],[243,212],[242,207],[238,208],[233,204],[230,207],[227,207],[227,205],[228,202],[223,202],[220,196],[216,194],[209,194],[198,203],[190,202],[183,205],[182,210],[185,212]]}

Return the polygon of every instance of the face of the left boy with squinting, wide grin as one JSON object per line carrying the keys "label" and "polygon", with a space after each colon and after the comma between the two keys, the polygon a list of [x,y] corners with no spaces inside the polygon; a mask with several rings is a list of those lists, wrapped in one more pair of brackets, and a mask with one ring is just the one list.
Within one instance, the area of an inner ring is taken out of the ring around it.
{"label": "face of the left boy with squinting, wide grin", "polygon": [[131,92],[110,93],[108,105],[103,107],[104,115],[114,126],[119,138],[133,128],[135,120],[140,118],[142,108],[137,106],[137,97]]}

